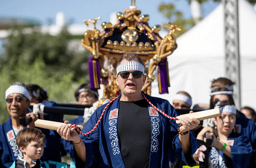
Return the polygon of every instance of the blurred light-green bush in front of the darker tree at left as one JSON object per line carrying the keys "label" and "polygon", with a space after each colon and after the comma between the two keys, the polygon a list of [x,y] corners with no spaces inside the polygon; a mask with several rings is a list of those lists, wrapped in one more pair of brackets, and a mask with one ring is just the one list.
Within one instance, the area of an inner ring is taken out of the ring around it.
{"label": "blurred light-green bush in front of the darker tree at left", "polygon": [[[10,115],[6,109],[5,90],[14,82],[20,81],[25,84],[36,83],[44,87],[49,92],[49,100],[56,102],[75,102],[73,87],[74,82],[72,78],[74,71],[64,74],[59,80],[53,76],[48,77],[45,71],[47,70],[46,64],[42,58],[37,58],[33,64],[27,65],[23,60],[19,60],[17,65],[10,71],[4,67],[0,72],[0,123],[7,121]],[[10,75],[8,75],[10,74]]]}

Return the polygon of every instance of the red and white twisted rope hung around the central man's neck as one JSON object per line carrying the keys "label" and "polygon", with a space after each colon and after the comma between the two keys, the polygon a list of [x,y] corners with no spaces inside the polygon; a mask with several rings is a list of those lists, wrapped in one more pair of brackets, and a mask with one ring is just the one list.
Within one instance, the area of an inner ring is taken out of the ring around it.
{"label": "red and white twisted rope hung around the central man's neck", "polygon": [[[147,97],[145,96],[145,94],[142,93],[142,95],[143,95],[143,97],[148,101],[148,103],[149,103],[151,106],[153,106],[157,111],[159,111],[160,113],[162,113],[162,114],[163,114],[164,116],[166,116],[167,118],[170,118],[170,119],[172,119],[172,120],[180,120],[180,119],[178,119],[178,118],[176,118],[176,117],[171,117],[171,116],[165,114],[162,110],[160,110],[160,109],[157,108],[154,104],[152,104],[152,103],[147,99]],[[89,135],[89,134],[91,134],[91,133],[97,128],[97,126],[98,126],[98,124],[100,123],[101,118],[103,117],[103,115],[104,115],[106,109],[108,108],[108,106],[109,106],[113,101],[115,101],[116,99],[117,99],[117,97],[116,97],[115,99],[113,99],[113,100],[111,100],[111,101],[108,102],[107,106],[103,109],[103,111],[102,111],[102,113],[101,113],[101,115],[100,115],[100,119],[98,120],[98,122],[96,123],[96,125],[94,126],[94,128],[93,128],[91,131],[89,131],[89,132],[87,132],[87,133],[84,134],[84,133],[81,132],[80,129],[78,129],[78,127],[76,126],[76,124],[73,124],[70,128],[76,127],[76,130],[77,130],[77,131],[79,132],[79,134],[81,134],[81,135]],[[72,133],[72,132],[75,132],[75,131],[70,131],[70,132]]]}

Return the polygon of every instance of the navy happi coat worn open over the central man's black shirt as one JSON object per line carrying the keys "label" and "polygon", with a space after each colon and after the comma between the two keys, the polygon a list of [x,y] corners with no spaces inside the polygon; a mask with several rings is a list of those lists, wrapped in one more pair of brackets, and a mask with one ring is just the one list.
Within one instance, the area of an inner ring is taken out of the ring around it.
{"label": "navy happi coat worn open over the central man's black shirt", "polygon": [[[178,116],[178,113],[169,101],[157,97],[151,97],[147,94],[145,95],[151,103],[164,111],[167,115],[173,117]],[[79,157],[77,157],[74,146],[71,147],[70,157],[76,162],[76,165],[79,165],[79,167],[125,167],[117,136],[117,117],[120,98],[121,94],[110,106],[108,106],[101,122],[91,134],[88,136],[81,136],[86,148],[85,164]],[[97,110],[92,114],[91,118],[82,130],[83,133],[87,133],[93,129],[106,105],[107,104],[97,108]],[[168,119],[154,110],[149,104],[148,111],[152,130],[149,168],[169,167],[170,156],[180,157],[186,164],[194,164],[195,162],[192,158],[192,154],[195,153],[198,148],[198,141],[196,140],[193,132],[190,131],[191,153],[188,153],[187,155],[190,159],[186,160],[180,145],[179,134],[177,132],[178,124],[176,124],[175,120]]]}

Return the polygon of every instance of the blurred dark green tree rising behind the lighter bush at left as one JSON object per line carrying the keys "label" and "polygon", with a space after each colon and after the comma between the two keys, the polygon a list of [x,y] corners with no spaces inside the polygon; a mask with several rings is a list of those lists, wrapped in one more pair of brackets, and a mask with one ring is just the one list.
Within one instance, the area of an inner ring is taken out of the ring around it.
{"label": "blurred dark green tree rising behind the lighter bush at left", "polygon": [[74,71],[73,81],[86,78],[87,69],[83,67],[84,63],[88,62],[88,52],[85,50],[83,53],[69,51],[67,45],[70,40],[71,35],[67,31],[67,27],[63,27],[56,36],[41,33],[40,27],[31,28],[29,33],[24,33],[24,29],[19,27],[13,28],[7,39],[7,44],[4,45],[0,70],[3,67],[12,70],[19,60],[31,65],[41,55],[47,66],[45,73],[48,76],[58,79],[62,75]]}

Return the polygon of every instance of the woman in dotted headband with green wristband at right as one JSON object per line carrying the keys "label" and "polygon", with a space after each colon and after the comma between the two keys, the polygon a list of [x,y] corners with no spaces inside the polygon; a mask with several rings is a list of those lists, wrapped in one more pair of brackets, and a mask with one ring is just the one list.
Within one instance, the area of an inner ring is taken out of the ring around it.
{"label": "woman in dotted headband with green wristband at right", "polygon": [[220,106],[221,115],[213,119],[215,129],[206,126],[197,135],[197,139],[209,144],[209,158],[213,167],[249,167],[252,145],[249,139],[236,131],[237,111],[234,105]]}

